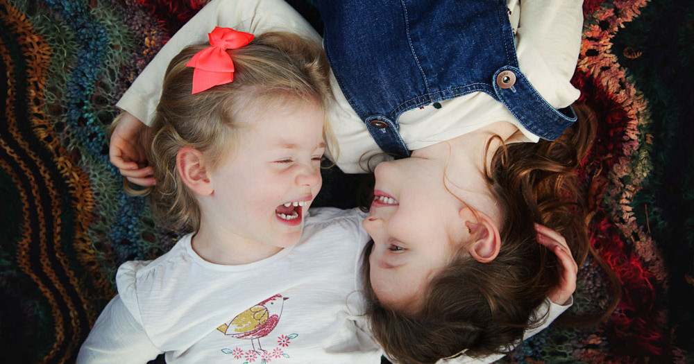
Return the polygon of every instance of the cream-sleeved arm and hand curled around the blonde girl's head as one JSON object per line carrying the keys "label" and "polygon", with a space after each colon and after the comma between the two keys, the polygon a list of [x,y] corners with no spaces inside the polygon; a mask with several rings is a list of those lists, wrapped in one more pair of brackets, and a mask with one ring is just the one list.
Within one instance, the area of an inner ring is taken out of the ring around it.
{"label": "cream-sleeved arm and hand curled around the blonde girl's head", "polygon": [[155,184],[137,135],[151,123],[171,59],[186,46],[208,41],[214,26],[253,34],[289,31],[321,42],[312,26],[282,0],[210,1],[162,47],[116,104],[125,113],[112,132],[109,155],[111,163],[128,181],[140,186]]}

